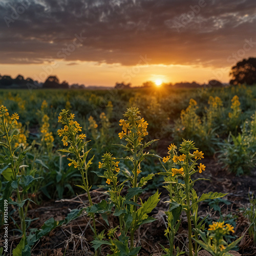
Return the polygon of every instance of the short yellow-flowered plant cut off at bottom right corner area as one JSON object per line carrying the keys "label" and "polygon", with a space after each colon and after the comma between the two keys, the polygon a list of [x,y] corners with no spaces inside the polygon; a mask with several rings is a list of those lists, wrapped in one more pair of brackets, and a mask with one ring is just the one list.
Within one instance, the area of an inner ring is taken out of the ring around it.
{"label": "short yellow-flowered plant cut off at bottom right corner area", "polygon": [[234,233],[234,228],[230,224],[223,222],[213,222],[209,225],[207,234],[201,230],[197,230],[203,241],[196,240],[206,251],[210,252],[212,256],[232,256],[228,253],[229,250],[234,248],[243,237],[240,237],[231,244],[227,244],[224,237],[230,232]]}

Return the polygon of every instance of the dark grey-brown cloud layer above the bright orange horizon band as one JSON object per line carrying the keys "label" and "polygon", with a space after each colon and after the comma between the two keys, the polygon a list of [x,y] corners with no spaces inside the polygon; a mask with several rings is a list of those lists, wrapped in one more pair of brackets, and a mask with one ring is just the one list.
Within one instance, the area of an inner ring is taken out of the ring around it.
{"label": "dark grey-brown cloud layer above the bright orange horizon band", "polygon": [[255,0],[2,0],[0,18],[1,63],[223,66],[256,41]]}

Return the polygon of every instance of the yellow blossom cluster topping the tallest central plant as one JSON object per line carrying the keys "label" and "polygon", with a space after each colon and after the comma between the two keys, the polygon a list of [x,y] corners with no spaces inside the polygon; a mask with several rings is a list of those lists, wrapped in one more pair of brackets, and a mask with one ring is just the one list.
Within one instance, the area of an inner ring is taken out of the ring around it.
{"label": "yellow blossom cluster topping the tallest central plant", "polygon": [[[134,108],[135,109],[135,108]],[[148,123],[144,120],[144,118],[140,118],[137,115],[140,114],[140,112],[137,110],[134,110],[136,113],[135,117],[129,118],[128,120],[120,119],[120,126],[122,126],[122,132],[118,134],[119,138],[122,139],[125,136],[128,136],[131,133],[131,136],[133,138],[137,138],[138,141],[142,141],[143,137],[148,135],[147,132],[147,125]],[[129,131],[127,131],[129,130]],[[136,134],[132,131],[136,131]]]}

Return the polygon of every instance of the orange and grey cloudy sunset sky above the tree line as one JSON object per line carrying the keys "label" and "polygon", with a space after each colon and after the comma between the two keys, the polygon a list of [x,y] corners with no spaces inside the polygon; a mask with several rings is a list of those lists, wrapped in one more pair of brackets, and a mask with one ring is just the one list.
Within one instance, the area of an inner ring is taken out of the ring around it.
{"label": "orange and grey cloudy sunset sky above the tree line", "polygon": [[255,0],[0,0],[0,75],[13,78],[228,82],[255,56]]}

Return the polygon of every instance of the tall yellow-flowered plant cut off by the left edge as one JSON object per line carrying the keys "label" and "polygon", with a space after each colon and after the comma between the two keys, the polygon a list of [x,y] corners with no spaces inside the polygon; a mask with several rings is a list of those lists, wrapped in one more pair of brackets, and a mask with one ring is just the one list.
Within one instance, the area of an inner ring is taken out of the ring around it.
{"label": "tall yellow-flowered plant cut off by the left edge", "polygon": [[[0,147],[2,148],[0,169],[4,178],[3,182],[0,181],[0,204],[1,209],[4,209],[2,206],[7,201],[17,206],[21,224],[20,227],[17,223],[15,224],[23,234],[22,240],[12,252],[13,255],[18,255],[17,251],[19,250],[20,252],[25,252],[27,245],[26,216],[29,201],[31,201],[28,198],[28,190],[36,179],[34,178],[36,170],[29,169],[29,166],[25,165],[26,154],[31,147],[27,147],[25,135],[23,133],[19,134],[20,125],[17,123],[18,119],[17,113],[12,114],[10,117],[7,108],[4,105],[0,107]],[[10,200],[11,197],[16,198],[16,200]],[[5,219],[5,224],[7,223],[8,221]],[[29,253],[29,251],[30,248],[27,248],[26,252]]]}

